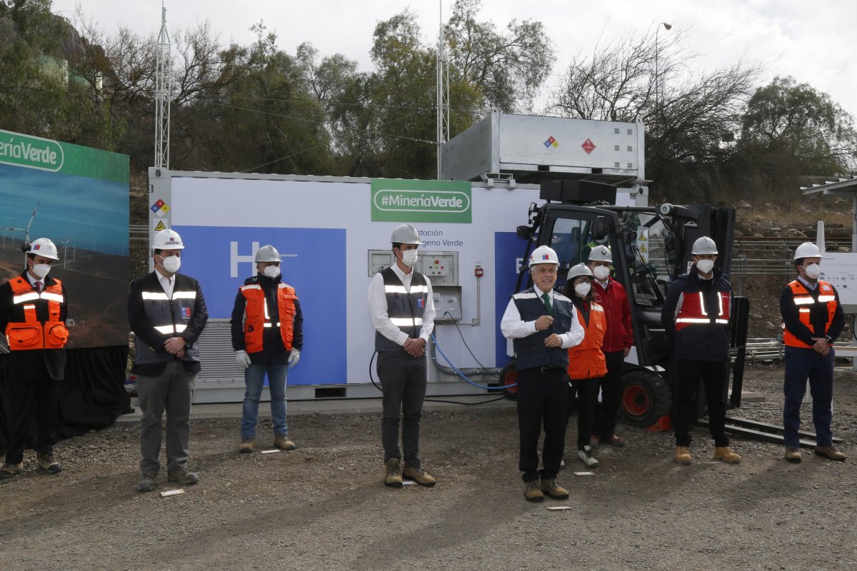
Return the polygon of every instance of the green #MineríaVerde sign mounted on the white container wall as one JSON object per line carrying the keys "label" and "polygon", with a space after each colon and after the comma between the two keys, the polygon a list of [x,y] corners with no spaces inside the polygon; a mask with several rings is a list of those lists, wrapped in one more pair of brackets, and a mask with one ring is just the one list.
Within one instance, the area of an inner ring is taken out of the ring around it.
{"label": "green #Miner\u00edaVerde sign mounted on the white container wall", "polygon": [[372,180],[375,222],[446,222],[472,220],[470,182]]}

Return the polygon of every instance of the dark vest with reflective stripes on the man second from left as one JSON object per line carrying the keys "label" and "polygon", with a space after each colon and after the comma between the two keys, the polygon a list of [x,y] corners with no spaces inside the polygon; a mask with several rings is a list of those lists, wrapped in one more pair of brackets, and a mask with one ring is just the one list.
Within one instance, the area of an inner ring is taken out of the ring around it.
{"label": "dark vest with reflective stripes on the man second from left", "polygon": [[[156,282],[155,287],[150,290],[144,289],[141,294],[143,296],[146,318],[149,324],[152,324],[164,336],[164,342],[170,337],[181,335],[182,331],[187,328],[190,319],[194,316],[196,289],[189,287],[189,283],[186,283],[186,280],[180,280],[178,274],[176,274],[176,284],[172,291],[172,299],[167,297],[164,288],[161,287],[159,282]],[[152,348],[149,348],[146,342],[143,342],[137,336],[135,336],[135,348],[137,351],[135,363],[138,365],[166,363],[175,359],[172,354],[166,351],[160,354],[155,353]],[[199,346],[194,343],[191,348],[185,349],[182,360],[199,361]]]}

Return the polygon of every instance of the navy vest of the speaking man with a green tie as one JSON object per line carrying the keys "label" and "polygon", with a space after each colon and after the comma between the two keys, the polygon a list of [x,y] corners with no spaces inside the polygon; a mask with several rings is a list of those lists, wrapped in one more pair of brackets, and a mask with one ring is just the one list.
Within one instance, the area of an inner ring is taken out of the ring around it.
{"label": "navy vest of the speaking man with a green tie", "polygon": [[[515,306],[523,321],[535,321],[542,315],[547,315],[541,293],[536,288],[525,289],[519,294],[512,295]],[[572,300],[565,295],[554,292],[553,312],[554,323],[548,329],[536,331],[532,335],[512,340],[515,348],[515,366],[518,371],[537,366],[552,366],[565,369],[568,366],[568,349],[544,346],[544,340],[556,333],[562,335],[572,329],[572,319],[575,312]]]}

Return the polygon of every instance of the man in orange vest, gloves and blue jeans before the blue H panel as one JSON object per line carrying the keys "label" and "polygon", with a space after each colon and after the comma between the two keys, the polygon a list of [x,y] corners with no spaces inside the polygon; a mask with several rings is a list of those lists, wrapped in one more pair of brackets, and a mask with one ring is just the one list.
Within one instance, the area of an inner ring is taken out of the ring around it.
{"label": "man in orange vest, gloves and blue jeans before the blue H panel", "polygon": [[283,282],[277,248],[267,245],[255,255],[256,275],[238,288],[230,321],[235,361],[244,370],[244,406],[241,417],[243,454],[253,452],[259,398],[267,375],[271,390],[273,445],[294,450],[286,422],[285,382],[303,349],[303,311],[295,288]]}

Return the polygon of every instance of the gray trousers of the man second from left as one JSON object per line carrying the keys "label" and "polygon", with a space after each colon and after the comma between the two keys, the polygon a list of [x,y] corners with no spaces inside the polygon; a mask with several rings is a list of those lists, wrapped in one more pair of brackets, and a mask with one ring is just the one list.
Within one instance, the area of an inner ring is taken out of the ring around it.
{"label": "gray trousers of the man second from left", "polygon": [[140,410],[141,475],[158,475],[160,469],[161,416],[166,411],[166,459],[168,472],[188,468],[190,401],[194,398],[196,374],[185,372],[174,359],[157,377],[137,376]]}

